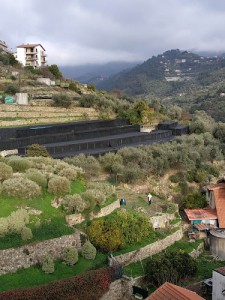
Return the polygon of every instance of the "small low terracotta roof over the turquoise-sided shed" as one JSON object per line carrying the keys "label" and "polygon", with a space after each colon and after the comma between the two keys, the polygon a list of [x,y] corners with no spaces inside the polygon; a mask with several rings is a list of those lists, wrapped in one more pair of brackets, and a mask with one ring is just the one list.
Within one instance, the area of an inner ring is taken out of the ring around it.
{"label": "small low terracotta roof over the turquoise-sided shed", "polygon": [[184,210],[189,221],[193,220],[216,220],[216,209],[212,208],[198,208],[198,209],[185,209]]}

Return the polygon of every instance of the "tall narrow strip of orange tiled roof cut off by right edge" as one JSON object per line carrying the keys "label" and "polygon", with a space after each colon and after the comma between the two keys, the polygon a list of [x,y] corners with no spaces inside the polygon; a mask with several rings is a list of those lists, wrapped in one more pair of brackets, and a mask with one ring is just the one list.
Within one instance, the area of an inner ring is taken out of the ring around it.
{"label": "tall narrow strip of orange tiled roof cut off by right edge", "polygon": [[225,228],[225,188],[213,191],[220,228]]}

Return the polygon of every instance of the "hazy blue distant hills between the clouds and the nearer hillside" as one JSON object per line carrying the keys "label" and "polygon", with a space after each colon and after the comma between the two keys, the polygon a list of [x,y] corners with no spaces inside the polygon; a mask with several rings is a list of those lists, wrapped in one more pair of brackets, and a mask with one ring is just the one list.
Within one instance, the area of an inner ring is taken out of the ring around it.
{"label": "hazy blue distant hills between the clouds and the nearer hillside", "polygon": [[138,62],[109,62],[107,64],[87,64],[79,66],[61,66],[64,77],[78,80],[81,83],[97,85],[125,69],[136,66]]}

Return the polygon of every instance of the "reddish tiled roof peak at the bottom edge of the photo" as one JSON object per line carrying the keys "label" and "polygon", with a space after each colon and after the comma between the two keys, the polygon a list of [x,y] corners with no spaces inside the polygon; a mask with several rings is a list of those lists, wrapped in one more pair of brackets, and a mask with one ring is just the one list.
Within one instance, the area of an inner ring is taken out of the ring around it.
{"label": "reddish tiled roof peak at the bottom edge of the photo", "polygon": [[165,282],[146,300],[204,300],[195,292],[180,286]]}

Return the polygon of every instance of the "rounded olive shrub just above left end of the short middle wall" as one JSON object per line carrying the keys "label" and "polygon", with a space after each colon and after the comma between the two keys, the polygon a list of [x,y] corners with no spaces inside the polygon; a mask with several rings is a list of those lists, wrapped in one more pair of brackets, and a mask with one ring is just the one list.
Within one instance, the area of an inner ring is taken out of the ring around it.
{"label": "rounded olive shrub just above left end of the short middle wall", "polygon": [[62,202],[63,208],[70,213],[81,213],[86,208],[85,201],[80,195],[66,195]]}

